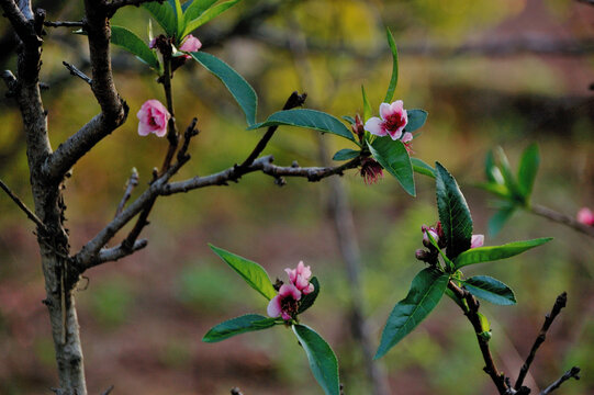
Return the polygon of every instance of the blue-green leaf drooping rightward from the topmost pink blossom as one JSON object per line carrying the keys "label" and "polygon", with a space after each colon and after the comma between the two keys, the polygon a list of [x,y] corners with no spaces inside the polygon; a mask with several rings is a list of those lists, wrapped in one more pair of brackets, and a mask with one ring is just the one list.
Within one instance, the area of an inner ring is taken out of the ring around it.
{"label": "blue-green leaf drooping rightward from the topmost pink blossom", "polygon": [[216,56],[204,52],[195,52],[190,55],[227,87],[235,101],[237,101],[237,104],[239,104],[246,114],[247,124],[254,125],[256,123],[258,97],[244,77],[239,76],[237,71]]}

